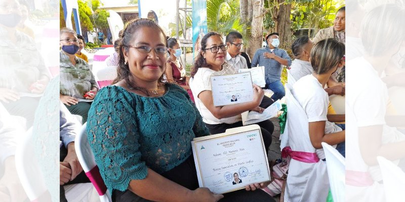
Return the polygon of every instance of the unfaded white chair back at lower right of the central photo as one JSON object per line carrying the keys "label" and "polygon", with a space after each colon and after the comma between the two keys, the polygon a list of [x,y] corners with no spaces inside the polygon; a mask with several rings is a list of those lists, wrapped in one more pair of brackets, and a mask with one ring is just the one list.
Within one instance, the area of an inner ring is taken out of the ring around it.
{"label": "unfaded white chair back at lower right of the central photo", "polygon": [[333,146],[322,142],[334,202],[345,201],[345,158]]}

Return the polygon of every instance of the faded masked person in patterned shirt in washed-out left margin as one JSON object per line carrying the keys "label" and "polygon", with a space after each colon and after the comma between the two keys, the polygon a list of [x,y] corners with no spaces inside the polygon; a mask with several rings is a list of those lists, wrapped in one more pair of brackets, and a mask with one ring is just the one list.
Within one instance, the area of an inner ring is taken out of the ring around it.
{"label": "faded masked person in patterned shirt in washed-out left margin", "polygon": [[20,21],[19,3],[0,0],[0,102],[29,128],[50,76],[35,42],[17,30]]}

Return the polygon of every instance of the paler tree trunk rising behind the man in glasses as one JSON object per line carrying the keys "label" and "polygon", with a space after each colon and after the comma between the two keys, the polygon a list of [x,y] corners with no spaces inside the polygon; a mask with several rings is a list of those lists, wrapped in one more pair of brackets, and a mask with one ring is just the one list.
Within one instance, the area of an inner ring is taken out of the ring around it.
{"label": "paler tree trunk rising behind the man in glasses", "polygon": [[257,49],[262,47],[264,0],[249,0],[252,5],[252,39],[247,54],[253,58]]}

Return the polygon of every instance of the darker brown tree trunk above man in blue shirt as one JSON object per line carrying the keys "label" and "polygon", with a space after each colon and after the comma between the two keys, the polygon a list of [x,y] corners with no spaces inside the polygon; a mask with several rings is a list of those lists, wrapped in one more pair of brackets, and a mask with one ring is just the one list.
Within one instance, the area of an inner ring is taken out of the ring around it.
{"label": "darker brown tree trunk above man in blue shirt", "polygon": [[[285,0],[277,0],[278,4],[284,3]],[[292,43],[291,38],[291,4],[281,4],[277,9],[275,8],[275,15],[273,20],[275,23],[275,32],[280,34],[280,47],[288,49]]]}

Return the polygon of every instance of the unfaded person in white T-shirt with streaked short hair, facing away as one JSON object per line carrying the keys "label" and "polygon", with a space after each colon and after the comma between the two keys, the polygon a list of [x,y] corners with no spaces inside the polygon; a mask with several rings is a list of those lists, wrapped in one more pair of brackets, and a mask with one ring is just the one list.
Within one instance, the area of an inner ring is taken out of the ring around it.
{"label": "unfaded person in white T-shirt with streaked short hair, facing away", "polygon": [[345,131],[327,118],[329,96],[323,86],[332,73],[343,66],[344,53],[345,45],[336,39],[319,41],[312,48],[310,56],[313,73],[299,79],[291,91],[307,114],[312,146],[318,149],[322,148],[321,142],[338,144],[336,149],[343,156],[345,156]]}

